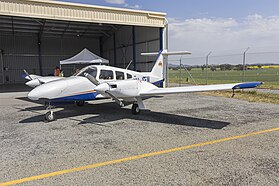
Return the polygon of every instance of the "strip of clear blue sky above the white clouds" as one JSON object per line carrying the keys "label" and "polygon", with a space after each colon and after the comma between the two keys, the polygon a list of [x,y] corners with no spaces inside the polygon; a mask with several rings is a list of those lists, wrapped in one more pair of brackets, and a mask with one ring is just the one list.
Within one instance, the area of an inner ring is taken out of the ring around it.
{"label": "strip of clear blue sky above the white clouds", "polygon": [[[279,14],[278,0],[64,0],[86,4],[125,7],[139,5],[139,9],[162,11],[172,18],[233,17],[260,14]],[[108,3],[115,2],[115,3]],[[119,4],[117,4],[119,3]]]}

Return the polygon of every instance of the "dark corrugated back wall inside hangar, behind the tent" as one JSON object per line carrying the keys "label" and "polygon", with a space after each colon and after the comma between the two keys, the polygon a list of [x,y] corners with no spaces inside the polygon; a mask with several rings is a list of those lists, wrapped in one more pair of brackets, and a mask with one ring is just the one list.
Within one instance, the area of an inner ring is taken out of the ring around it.
{"label": "dark corrugated back wall inside hangar, behind the tent", "polygon": [[[83,48],[100,54],[99,39],[42,37],[42,72],[43,75],[54,73],[59,61],[69,58]],[[22,83],[23,69],[39,74],[39,55],[37,35],[7,35],[0,33],[0,49],[3,50],[4,83]],[[64,67],[69,75],[72,67]]]}

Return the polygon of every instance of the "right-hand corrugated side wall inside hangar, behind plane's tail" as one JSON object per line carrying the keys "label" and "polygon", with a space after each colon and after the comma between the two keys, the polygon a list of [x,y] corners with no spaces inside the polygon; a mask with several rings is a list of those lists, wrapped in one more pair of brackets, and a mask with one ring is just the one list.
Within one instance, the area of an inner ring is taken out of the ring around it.
{"label": "right-hand corrugated side wall inside hangar, behind plane's tail", "polygon": [[[110,60],[111,65],[126,68],[133,59],[132,26],[122,26],[114,36],[103,41],[103,56]],[[151,27],[135,27],[137,70],[150,71],[156,57],[141,56],[142,52],[157,52],[160,50],[160,30]],[[114,56],[114,41],[116,58]],[[129,69],[133,69],[131,64]]]}

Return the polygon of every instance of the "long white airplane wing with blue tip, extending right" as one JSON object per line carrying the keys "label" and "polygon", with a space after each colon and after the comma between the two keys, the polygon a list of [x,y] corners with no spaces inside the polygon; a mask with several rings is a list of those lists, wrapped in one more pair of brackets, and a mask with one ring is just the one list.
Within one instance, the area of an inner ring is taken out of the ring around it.
{"label": "long white airplane wing with blue tip, extending right", "polygon": [[235,84],[218,84],[218,85],[198,85],[187,87],[173,87],[173,88],[154,88],[151,90],[141,91],[141,96],[163,95],[163,94],[178,94],[190,92],[206,92],[215,90],[235,90],[245,88],[255,88],[261,85],[262,82],[247,82]]}

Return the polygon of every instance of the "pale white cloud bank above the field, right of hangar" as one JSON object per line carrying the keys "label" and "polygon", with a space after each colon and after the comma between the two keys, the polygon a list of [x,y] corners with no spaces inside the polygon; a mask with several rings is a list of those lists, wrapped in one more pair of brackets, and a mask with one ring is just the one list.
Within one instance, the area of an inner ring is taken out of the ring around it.
{"label": "pale white cloud bank above the field, right of hangar", "polygon": [[169,19],[169,48],[204,55],[247,47],[279,45],[279,16],[249,15],[234,18]]}

